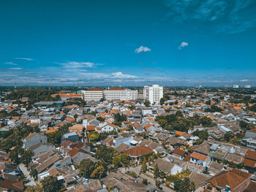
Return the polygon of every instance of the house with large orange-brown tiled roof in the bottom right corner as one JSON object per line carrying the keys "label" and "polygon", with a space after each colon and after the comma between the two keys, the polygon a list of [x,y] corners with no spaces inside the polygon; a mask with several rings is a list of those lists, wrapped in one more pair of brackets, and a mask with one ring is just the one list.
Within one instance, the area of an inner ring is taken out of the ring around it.
{"label": "house with large orange-brown tiled roof in the bottom right corner", "polygon": [[206,181],[206,189],[208,191],[241,192],[249,185],[250,176],[251,174],[238,169],[223,171]]}

